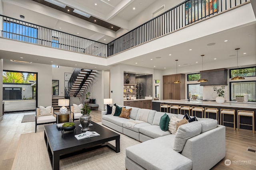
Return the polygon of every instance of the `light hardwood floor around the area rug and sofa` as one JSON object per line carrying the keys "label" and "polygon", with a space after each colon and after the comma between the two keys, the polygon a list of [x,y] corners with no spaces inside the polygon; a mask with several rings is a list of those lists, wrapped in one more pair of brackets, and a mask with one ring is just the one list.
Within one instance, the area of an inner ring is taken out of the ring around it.
{"label": "light hardwood floor around the area rug and sofa", "polygon": [[[12,169],[20,134],[35,131],[35,122],[21,123],[25,114],[35,114],[35,112],[5,114],[0,121],[0,169]],[[92,110],[91,116],[92,121],[101,121],[101,111]],[[38,125],[37,132],[43,130],[44,125]],[[255,170],[256,153],[247,151],[249,146],[256,148],[256,134],[248,130],[234,131],[232,127],[226,127],[226,157],[212,170]],[[226,159],[231,161],[230,166],[225,165]],[[247,164],[241,161],[247,161]]]}

